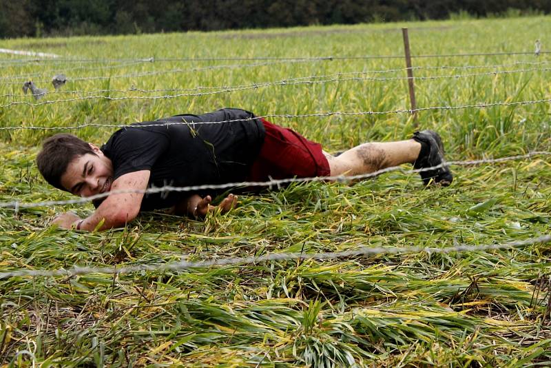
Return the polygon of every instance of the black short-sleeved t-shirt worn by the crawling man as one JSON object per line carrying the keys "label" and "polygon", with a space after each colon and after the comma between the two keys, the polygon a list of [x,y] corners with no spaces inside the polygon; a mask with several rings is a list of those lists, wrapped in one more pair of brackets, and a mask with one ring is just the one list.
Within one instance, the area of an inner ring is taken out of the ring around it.
{"label": "black short-sleeved t-shirt worn by the crawling man", "polygon": [[[250,120],[194,124],[235,119]],[[264,142],[264,134],[262,121],[251,112],[222,109],[132,124],[117,130],[101,150],[113,163],[114,180],[129,172],[150,170],[148,187],[222,184],[247,178]],[[198,193],[216,195],[219,192]],[[189,194],[145,194],[141,210],[171,207]]]}

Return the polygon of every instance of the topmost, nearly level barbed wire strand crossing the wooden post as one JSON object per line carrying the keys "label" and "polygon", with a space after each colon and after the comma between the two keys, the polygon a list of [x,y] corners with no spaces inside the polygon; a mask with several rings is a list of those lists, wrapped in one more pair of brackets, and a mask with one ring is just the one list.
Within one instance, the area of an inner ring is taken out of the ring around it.
{"label": "topmost, nearly level barbed wire strand crossing the wooden post", "polygon": [[[541,51],[541,54],[550,54],[551,51]],[[468,52],[468,53],[450,53],[450,54],[418,54],[411,55],[412,58],[418,59],[437,59],[437,58],[452,58],[452,57],[486,57],[486,56],[513,56],[513,55],[533,55],[530,51],[503,51],[503,52]],[[313,57],[181,57],[181,58],[162,58],[162,57],[145,57],[137,59],[74,59],[74,58],[56,58],[56,59],[6,59],[0,63],[118,63],[129,61],[152,60],[153,62],[163,61],[258,61],[258,60],[278,60],[278,61],[320,61],[320,60],[368,60],[368,59],[404,59],[404,55],[357,55],[357,56],[313,56]]]}

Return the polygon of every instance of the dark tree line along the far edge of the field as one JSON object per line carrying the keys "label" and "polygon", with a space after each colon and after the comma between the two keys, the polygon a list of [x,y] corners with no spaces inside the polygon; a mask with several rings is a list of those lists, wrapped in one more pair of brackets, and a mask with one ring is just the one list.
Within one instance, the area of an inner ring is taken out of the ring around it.
{"label": "dark tree line along the far edge of the field", "polygon": [[353,24],[551,12],[549,0],[0,0],[0,38]]}

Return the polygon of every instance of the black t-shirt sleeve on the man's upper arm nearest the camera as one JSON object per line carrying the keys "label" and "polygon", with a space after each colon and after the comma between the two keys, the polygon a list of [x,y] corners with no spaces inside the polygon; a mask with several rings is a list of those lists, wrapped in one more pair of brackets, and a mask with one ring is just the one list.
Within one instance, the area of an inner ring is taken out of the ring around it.
{"label": "black t-shirt sleeve on the man's upper arm nearest the camera", "polygon": [[132,127],[122,130],[112,142],[114,179],[140,170],[151,170],[169,148],[168,132]]}

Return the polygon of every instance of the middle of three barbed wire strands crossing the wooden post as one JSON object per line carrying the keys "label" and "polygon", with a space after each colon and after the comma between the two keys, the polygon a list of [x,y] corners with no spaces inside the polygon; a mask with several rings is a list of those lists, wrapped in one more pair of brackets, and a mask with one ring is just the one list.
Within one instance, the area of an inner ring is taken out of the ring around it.
{"label": "middle of three barbed wire strands crossing the wooden post", "polygon": [[[400,69],[403,70],[403,69]],[[460,79],[468,78],[471,76],[489,76],[489,75],[499,75],[499,74],[517,74],[524,72],[548,72],[551,68],[527,68],[527,69],[517,69],[517,70],[495,70],[493,72],[479,72],[479,73],[468,73],[468,74],[446,74],[446,75],[435,75],[435,76],[393,76],[393,77],[374,77],[374,76],[355,76],[350,78],[342,78],[342,76],[347,75],[362,75],[369,74],[373,72],[382,72],[380,70],[371,71],[371,72],[343,72],[335,74],[325,74],[325,75],[311,75],[311,76],[300,76],[291,79],[281,79],[278,81],[264,81],[257,82],[252,84],[245,85],[222,85],[218,87],[196,87],[196,88],[162,88],[156,90],[142,90],[139,88],[129,88],[127,90],[98,90],[98,91],[81,91],[73,90],[66,92],[52,92],[52,93],[63,93],[63,94],[99,94],[99,93],[129,93],[129,92],[143,92],[143,93],[154,93],[154,92],[179,92],[179,91],[194,91],[194,90],[215,90],[211,92],[196,92],[196,93],[184,93],[184,94],[173,94],[168,96],[173,97],[183,97],[183,96],[206,96],[211,94],[222,94],[229,92],[238,92],[244,90],[256,90],[258,88],[266,88],[273,85],[300,85],[300,84],[324,84],[324,83],[333,83],[333,82],[346,82],[346,81],[403,81],[407,79],[414,79],[417,81],[425,80],[436,80],[436,79]],[[395,71],[387,70],[386,72]],[[322,80],[307,80],[307,79],[319,79],[332,77],[331,79],[322,79]],[[27,97],[25,94],[2,94],[0,96],[8,97]],[[111,97],[111,96],[83,96],[77,97],[76,99],[61,99],[61,100],[52,100],[50,103],[63,103],[63,102],[72,102],[72,101],[81,101],[81,99],[154,99],[154,98],[166,98],[166,95],[163,96],[127,96],[127,97]],[[0,105],[0,108],[10,107],[11,105],[21,105],[26,104],[27,101],[12,101],[8,105]],[[33,105],[39,105],[41,103],[34,103]]]}

